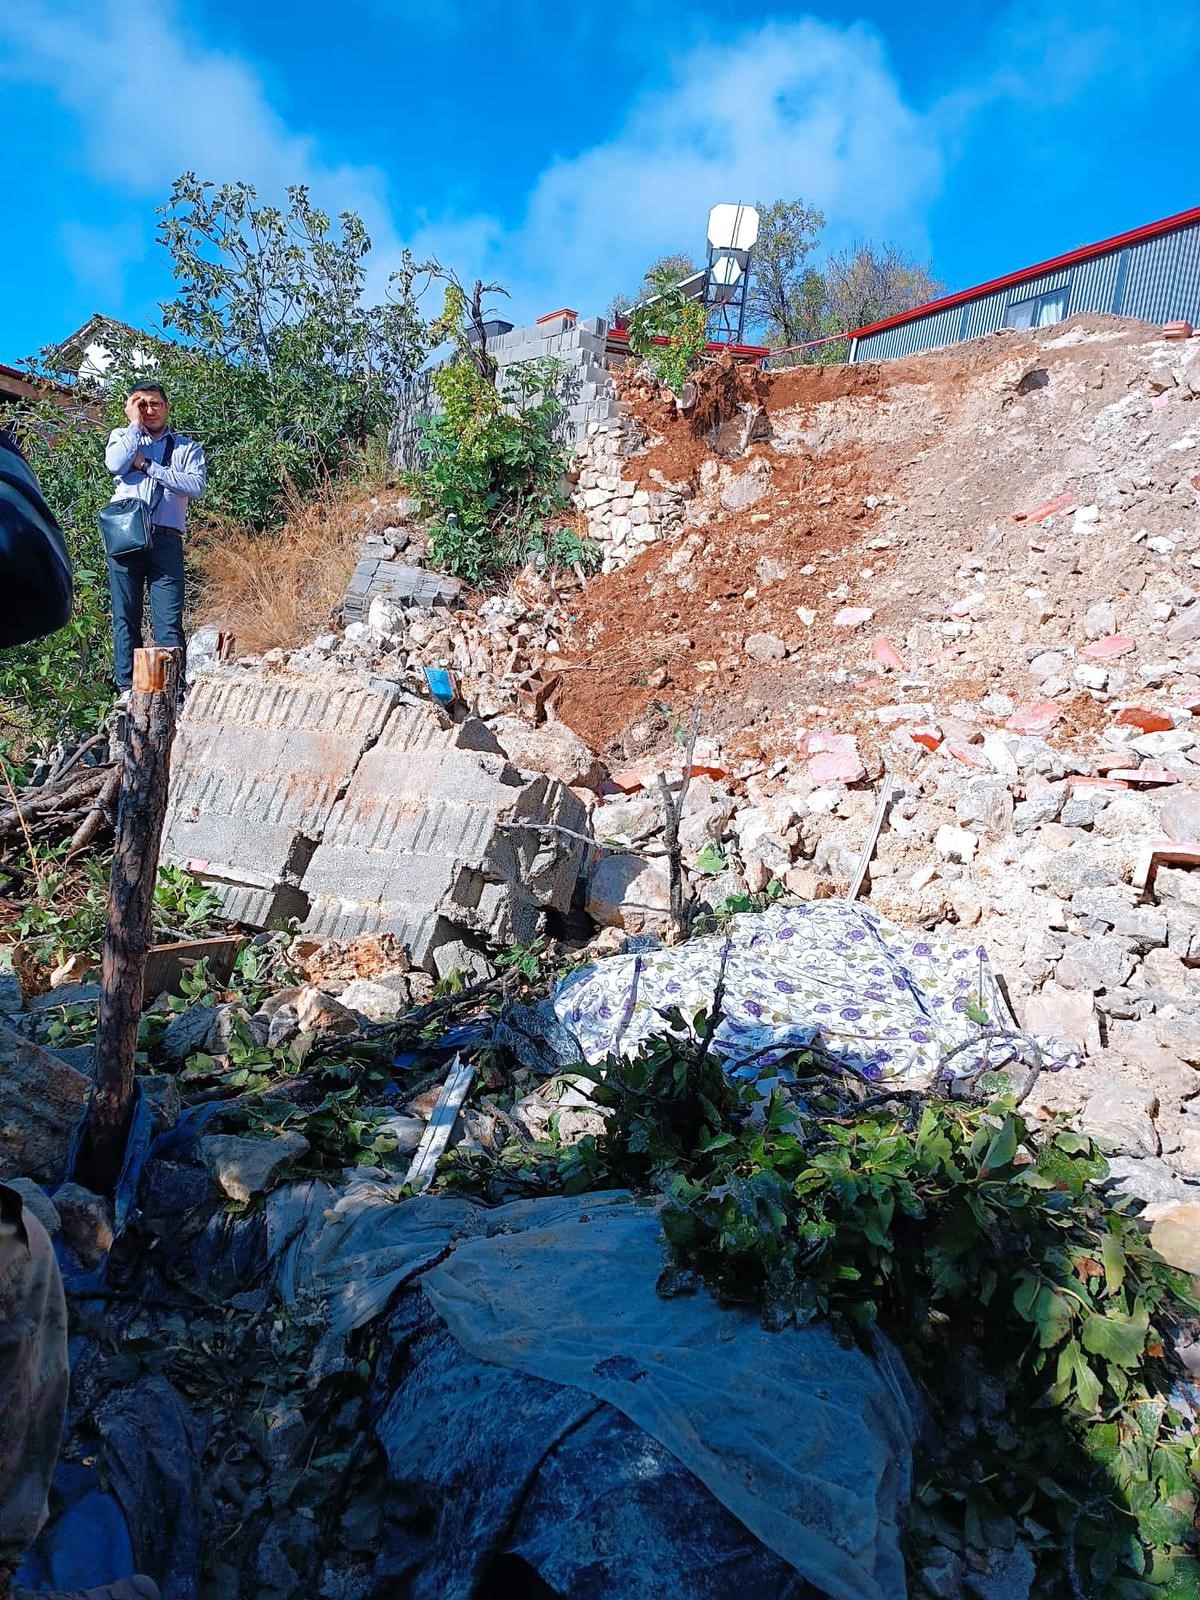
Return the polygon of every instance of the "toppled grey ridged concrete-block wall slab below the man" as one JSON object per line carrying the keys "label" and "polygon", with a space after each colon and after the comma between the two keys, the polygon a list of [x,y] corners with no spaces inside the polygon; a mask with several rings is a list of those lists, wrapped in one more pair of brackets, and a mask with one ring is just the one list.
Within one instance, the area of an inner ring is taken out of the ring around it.
{"label": "toppled grey ridged concrete-block wall slab below the man", "polygon": [[437,971],[464,936],[530,942],[570,909],[582,845],[557,829],[584,822],[565,784],[522,776],[482,722],[387,678],[214,667],[179,723],[163,859],[235,922],[389,933]]}

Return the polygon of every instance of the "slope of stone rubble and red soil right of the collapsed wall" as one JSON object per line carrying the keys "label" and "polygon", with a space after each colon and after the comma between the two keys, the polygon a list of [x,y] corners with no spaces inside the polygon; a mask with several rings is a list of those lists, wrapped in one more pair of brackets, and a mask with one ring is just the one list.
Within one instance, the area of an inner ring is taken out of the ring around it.
{"label": "slope of stone rubble and red soil right of the collapsed wall", "polygon": [[682,403],[622,376],[576,466],[600,576],[526,570],[482,603],[400,581],[426,555],[402,499],[362,621],[264,666],[422,694],[453,674],[474,738],[579,803],[594,952],[675,936],[656,784],[682,787],[690,707],[691,914],[845,894],[886,774],[864,902],[970,930],[1022,1026],[1086,1053],[1046,1109],[1184,1203],[1200,891],[1187,848],[1147,853],[1200,835],[1197,392],[1197,341],[1104,317],[875,366],[717,363]]}

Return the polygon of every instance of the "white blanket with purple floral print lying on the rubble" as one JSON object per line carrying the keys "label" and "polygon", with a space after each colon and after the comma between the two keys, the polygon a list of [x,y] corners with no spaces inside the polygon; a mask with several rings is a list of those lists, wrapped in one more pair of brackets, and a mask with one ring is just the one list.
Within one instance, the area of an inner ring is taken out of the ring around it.
{"label": "white blanket with purple floral print lying on the rubble", "polygon": [[[728,933],[610,957],[571,973],[549,1003],[587,1061],[632,1054],[664,1032],[662,1013],[712,1010],[726,944],[715,1043],[746,1075],[813,1043],[866,1078],[914,1088],[1014,1056],[982,1038],[1014,1027],[982,946],[914,936],[845,901],[776,906],[734,917]],[[1048,1067],[1072,1059],[1061,1040],[1038,1045]]]}

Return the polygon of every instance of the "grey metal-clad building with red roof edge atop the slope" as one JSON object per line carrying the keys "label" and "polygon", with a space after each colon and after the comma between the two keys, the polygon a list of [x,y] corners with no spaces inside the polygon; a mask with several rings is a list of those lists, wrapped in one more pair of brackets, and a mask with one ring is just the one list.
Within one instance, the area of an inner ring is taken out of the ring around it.
{"label": "grey metal-clad building with red roof edge atop the slope", "polygon": [[850,360],[914,355],[997,328],[1051,326],[1083,310],[1200,326],[1200,206],[862,328]]}

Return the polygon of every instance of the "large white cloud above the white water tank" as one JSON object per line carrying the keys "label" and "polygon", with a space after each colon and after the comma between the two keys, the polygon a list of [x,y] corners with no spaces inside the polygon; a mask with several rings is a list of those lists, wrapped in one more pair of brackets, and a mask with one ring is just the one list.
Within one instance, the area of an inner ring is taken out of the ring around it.
{"label": "large white cloud above the white water tank", "polygon": [[690,51],[613,139],[550,165],[491,264],[526,312],[598,310],[662,251],[702,253],[718,200],[803,197],[830,248],[870,234],[922,251],[939,184],[936,125],[906,104],[875,34],[768,24]]}

